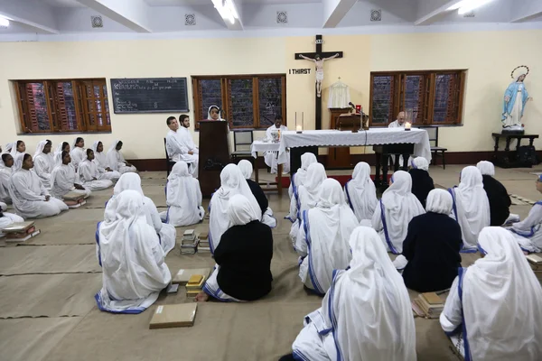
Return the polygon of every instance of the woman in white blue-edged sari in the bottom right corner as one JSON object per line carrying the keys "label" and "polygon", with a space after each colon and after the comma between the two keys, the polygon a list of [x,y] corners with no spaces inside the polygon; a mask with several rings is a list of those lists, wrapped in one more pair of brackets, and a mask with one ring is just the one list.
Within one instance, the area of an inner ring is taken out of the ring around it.
{"label": "woman in white blue-edged sari in the bottom right corner", "polygon": [[542,288],[514,237],[485,227],[483,258],[460,268],[441,326],[465,361],[542,359]]}

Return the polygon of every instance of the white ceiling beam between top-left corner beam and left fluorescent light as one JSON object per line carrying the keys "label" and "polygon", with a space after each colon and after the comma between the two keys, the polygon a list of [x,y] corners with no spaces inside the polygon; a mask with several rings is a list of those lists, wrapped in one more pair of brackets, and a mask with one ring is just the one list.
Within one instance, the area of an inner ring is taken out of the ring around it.
{"label": "white ceiling beam between top-left corner beam and left fluorescent light", "polygon": [[144,0],[77,1],[135,32],[152,32],[148,19],[151,9],[149,5],[146,5]]}

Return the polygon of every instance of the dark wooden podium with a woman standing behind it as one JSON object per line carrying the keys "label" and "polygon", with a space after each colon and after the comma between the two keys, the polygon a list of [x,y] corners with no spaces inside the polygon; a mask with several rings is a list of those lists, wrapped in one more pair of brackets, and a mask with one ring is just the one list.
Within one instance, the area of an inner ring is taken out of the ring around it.
{"label": "dark wooden podium with a woman standing behind it", "polygon": [[228,122],[200,122],[199,180],[201,195],[210,195],[220,188],[220,171],[231,162]]}

